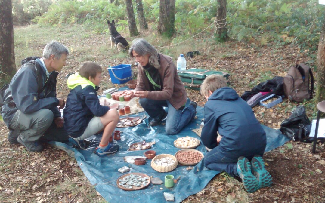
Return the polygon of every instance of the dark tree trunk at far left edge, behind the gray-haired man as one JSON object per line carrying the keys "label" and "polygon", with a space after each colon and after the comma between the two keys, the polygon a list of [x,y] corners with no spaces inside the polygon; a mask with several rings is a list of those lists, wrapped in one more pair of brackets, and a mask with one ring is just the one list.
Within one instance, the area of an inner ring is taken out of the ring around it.
{"label": "dark tree trunk at far left edge, behind the gray-haired man", "polygon": [[0,0],[0,88],[16,72],[11,0]]}

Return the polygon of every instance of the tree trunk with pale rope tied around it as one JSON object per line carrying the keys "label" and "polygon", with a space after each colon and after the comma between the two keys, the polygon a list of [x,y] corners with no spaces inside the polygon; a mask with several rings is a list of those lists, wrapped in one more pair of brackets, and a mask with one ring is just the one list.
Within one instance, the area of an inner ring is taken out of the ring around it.
{"label": "tree trunk with pale rope tied around it", "polygon": [[227,35],[227,0],[218,0],[218,13],[214,25],[216,26],[216,34],[219,40],[225,41],[228,39]]}

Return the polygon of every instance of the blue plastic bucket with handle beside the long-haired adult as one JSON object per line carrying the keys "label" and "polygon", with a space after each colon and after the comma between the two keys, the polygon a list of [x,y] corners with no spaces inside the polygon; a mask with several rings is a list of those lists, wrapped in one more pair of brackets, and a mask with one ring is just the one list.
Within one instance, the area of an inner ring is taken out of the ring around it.
{"label": "blue plastic bucket with handle beside the long-haired adult", "polygon": [[110,79],[114,84],[123,84],[132,80],[132,71],[130,64],[120,64],[107,68],[110,73]]}

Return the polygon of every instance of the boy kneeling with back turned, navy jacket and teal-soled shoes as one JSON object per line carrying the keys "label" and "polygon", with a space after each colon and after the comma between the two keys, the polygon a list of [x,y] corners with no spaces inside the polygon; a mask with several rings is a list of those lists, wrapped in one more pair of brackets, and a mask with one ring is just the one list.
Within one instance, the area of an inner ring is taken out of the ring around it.
{"label": "boy kneeling with back turned, navy jacket and teal-soled shoes", "polygon": [[272,178],[262,159],[266,133],[252,108],[217,75],[204,80],[201,94],[207,99],[201,140],[212,149],[204,157],[204,166],[239,176],[250,193],[270,186]]}

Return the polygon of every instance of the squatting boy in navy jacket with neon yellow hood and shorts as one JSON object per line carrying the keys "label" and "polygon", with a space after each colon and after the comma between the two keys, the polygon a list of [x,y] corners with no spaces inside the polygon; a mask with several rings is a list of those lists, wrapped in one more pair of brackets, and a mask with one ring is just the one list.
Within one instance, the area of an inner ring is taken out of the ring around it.
{"label": "squatting boy in navy jacket with neon yellow hood and shorts", "polygon": [[102,68],[97,63],[83,63],[79,72],[68,78],[67,84],[71,91],[63,110],[64,128],[72,144],[82,148],[82,140],[103,131],[96,150],[98,156],[118,150],[118,145],[109,143],[109,139],[119,121],[119,114],[116,109],[101,106],[96,92],[101,73]]}

